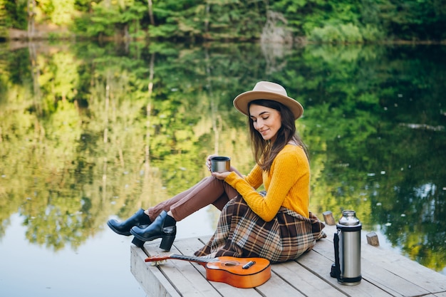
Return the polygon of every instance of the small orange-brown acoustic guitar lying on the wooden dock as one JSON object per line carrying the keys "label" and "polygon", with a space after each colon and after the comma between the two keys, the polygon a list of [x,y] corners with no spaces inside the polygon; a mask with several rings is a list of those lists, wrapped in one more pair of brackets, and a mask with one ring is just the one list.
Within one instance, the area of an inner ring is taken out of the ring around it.
{"label": "small orange-brown acoustic guitar lying on the wooden dock", "polygon": [[236,258],[221,256],[202,259],[194,256],[171,254],[170,256],[150,256],[146,262],[177,259],[201,264],[206,269],[208,281],[219,281],[237,288],[254,288],[271,277],[269,260],[264,258]]}

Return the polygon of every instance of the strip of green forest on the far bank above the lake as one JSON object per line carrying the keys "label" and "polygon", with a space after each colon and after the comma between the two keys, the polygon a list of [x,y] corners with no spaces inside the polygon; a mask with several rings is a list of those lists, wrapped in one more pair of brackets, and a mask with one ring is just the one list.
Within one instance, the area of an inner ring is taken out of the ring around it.
{"label": "strip of green forest on the far bank above the lake", "polygon": [[[282,43],[445,41],[442,0],[0,0],[0,35],[52,25],[77,38]],[[32,36],[31,36],[32,37]],[[58,38],[53,33],[53,38]]]}

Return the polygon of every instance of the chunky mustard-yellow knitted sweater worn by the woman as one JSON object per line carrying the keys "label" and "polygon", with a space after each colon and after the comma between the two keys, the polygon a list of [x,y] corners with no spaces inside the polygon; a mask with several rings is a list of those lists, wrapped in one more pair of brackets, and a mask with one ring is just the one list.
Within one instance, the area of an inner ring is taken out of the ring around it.
{"label": "chunky mustard-yellow knitted sweater worn by the woman", "polygon": [[[237,189],[249,207],[266,222],[276,217],[280,207],[309,217],[310,166],[302,147],[285,145],[269,172],[256,165],[246,177],[231,172],[224,181]],[[256,191],[261,184],[266,189],[265,197]]]}

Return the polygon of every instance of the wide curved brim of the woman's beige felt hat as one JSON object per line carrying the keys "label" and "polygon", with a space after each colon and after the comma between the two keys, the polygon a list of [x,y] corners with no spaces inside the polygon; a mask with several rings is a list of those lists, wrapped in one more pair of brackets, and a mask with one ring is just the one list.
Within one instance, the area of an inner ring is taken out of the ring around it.
{"label": "wide curved brim of the woman's beige felt hat", "polygon": [[293,98],[289,98],[278,93],[266,92],[264,90],[249,90],[238,95],[234,99],[234,107],[239,110],[240,113],[249,116],[248,103],[252,100],[259,99],[274,100],[282,103],[291,110],[294,115],[294,120],[301,118],[302,114],[304,113],[304,108],[302,107],[301,103],[297,102]]}

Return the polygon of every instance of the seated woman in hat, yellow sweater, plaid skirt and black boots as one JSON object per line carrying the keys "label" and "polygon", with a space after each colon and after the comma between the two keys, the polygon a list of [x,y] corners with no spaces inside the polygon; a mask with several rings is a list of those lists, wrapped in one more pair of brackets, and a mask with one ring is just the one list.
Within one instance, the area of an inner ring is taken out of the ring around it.
{"label": "seated woman in hat, yellow sweater, plaid skirt and black boots", "polygon": [[[195,256],[263,257],[271,262],[296,259],[325,236],[324,225],[308,210],[308,153],[295,125],[304,112],[301,104],[281,85],[261,81],[238,95],[234,107],[248,116],[256,160],[246,177],[233,167],[212,172],[185,192],[140,209],[125,222],[112,219],[108,226],[118,234],[133,234],[138,246],[162,238],[160,248],[169,251],[176,222],[213,204],[222,211],[217,230]],[[261,184],[266,191],[257,192]]]}

